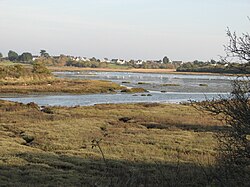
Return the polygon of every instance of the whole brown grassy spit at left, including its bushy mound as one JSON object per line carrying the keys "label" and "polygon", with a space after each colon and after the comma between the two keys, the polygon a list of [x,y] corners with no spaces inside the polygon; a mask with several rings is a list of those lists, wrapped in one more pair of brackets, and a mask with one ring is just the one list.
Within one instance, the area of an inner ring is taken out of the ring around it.
{"label": "whole brown grassy spit at left, including its bushy mound", "polygon": [[0,93],[115,93],[123,87],[99,80],[56,79],[41,63],[0,66]]}

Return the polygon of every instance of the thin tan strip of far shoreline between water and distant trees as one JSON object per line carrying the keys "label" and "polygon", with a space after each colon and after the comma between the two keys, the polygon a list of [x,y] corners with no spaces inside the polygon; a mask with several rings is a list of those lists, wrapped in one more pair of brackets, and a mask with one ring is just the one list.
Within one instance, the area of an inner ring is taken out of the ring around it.
{"label": "thin tan strip of far shoreline between water and distant trees", "polygon": [[80,68],[69,66],[48,66],[51,71],[104,71],[104,72],[132,72],[132,73],[166,73],[179,75],[217,75],[217,76],[237,76],[237,74],[208,73],[208,72],[177,72],[176,69],[111,69],[111,68]]}

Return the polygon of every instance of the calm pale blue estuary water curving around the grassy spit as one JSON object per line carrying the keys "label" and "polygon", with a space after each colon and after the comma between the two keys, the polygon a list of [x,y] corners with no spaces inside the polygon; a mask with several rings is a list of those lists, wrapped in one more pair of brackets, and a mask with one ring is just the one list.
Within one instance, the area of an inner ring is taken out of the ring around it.
{"label": "calm pale blue estuary water curving around the grassy spit", "polygon": [[236,77],[216,75],[181,75],[129,72],[54,72],[60,78],[107,80],[126,87],[142,87],[148,93],[137,94],[36,94],[0,95],[0,99],[51,106],[88,106],[103,103],[160,102],[180,103],[189,100],[227,97]]}

